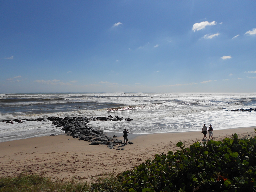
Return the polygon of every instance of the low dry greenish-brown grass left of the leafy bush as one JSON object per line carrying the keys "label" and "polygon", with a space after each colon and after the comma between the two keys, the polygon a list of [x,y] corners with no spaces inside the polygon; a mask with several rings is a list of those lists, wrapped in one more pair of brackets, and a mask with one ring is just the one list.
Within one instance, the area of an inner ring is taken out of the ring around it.
{"label": "low dry greenish-brown grass left of the leafy bush", "polygon": [[1,177],[0,192],[122,192],[116,174],[108,173],[86,182],[78,177],[63,181],[38,174],[20,174],[17,177]]}

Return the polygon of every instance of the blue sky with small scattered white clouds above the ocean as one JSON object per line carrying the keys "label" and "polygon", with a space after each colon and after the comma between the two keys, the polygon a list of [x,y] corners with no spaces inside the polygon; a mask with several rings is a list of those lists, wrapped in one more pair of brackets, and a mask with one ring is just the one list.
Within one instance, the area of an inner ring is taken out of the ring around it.
{"label": "blue sky with small scattered white clouds above the ocean", "polygon": [[256,92],[255,0],[0,0],[0,93]]}

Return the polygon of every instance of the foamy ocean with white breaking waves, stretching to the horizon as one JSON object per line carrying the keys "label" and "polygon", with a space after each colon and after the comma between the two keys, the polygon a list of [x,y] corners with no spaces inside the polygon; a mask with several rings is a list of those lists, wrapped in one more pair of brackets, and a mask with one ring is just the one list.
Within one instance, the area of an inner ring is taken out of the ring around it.
{"label": "foamy ocean with white breaking waves, stretching to the horizon", "polygon": [[8,93],[0,94],[0,142],[63,133],[51,121],[2,120],[47,117],[113,117],[133,121],[90,121],[104,133],[168,133],[256,125],[256,93]]}

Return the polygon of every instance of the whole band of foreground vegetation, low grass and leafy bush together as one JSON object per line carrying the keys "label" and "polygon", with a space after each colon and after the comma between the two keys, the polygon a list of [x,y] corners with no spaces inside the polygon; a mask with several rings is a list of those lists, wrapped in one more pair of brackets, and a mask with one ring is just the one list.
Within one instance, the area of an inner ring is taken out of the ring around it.
{"label": "whole band of foreground vegetation, low grass and leafy bush together", "polygon": [[[256,130],[255,130],[256,131]],[[0,178],[0,192],[183,192],[256,191],[256,138],[194,143],[156,154],[133,170],[107,174],[90,183],[64,182],[40,175]]]}

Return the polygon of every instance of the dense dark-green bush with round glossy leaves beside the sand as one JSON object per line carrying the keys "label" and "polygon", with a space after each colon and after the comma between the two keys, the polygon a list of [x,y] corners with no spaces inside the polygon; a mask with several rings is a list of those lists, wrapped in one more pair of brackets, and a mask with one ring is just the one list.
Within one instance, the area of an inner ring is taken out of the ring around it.
{"label": "dense dark-green bush with round glossy leaves beside the sand", "polygon": [[194,143],[123,172],[129,192],[256,191],[256,138]]}

